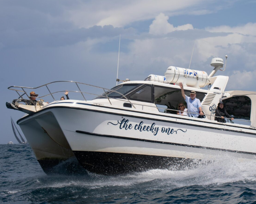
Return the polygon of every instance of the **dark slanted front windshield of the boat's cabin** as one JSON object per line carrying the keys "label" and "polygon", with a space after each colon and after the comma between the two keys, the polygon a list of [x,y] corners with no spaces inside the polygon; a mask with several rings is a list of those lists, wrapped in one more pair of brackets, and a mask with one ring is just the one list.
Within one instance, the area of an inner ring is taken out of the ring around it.
{"label": "dark slanted front windshield of the boat's cabin", "polygon": [[[112,88],[111,90],[114,90],[114,91],[117,91],[119,93],[122,93],[123,95],[129,93],[131,90],[135,89],[136,87],[138,87],[139,85],[141,84],[124,84],[124,85],[118,85],[118,86],[115,86],[114,88]],[[108,97],[111,97],[111,98],[121,98],[122,95],[117,93],[117,92],[114,92],[114,91],[108,91],[106,92]],[[95,98],[95,99],[99,99],[99,98],[106,98],[106,94],[102,94],[101,96]]]}

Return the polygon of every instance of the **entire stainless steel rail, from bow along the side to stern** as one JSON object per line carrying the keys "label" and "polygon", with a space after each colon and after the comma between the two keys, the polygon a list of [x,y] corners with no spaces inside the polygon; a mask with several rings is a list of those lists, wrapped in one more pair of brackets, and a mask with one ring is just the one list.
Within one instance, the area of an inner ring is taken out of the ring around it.
{"label": "entire stainless steel rail, from bow along the side to stern", "polygon": [[[56,92],[53,92],[53,93],[52,93],[47,85],[53,84],[53,83],[59,83],[59,82],[75,83],[76,86],[77,86],[77,88],[79,89],[79,91],[68,91],[68,92],[81,93],[85,101],[86,101],[86,99],[85,99],[85,97],[84,97],[84,94],[89,94],[89,95],[101,96],[101,97],[107,98],[107,99],[109,100],[109,103],[112,105],[112,103],[111,103],[111,101],[110,101],[110,99],[111,99],[112,97],[109,97],[108,94],[110,94],[110,93],[112,93],[112,92],[115,92],[115,93],[118,93],[118,94],[122,95],[122,96],[125,98],[125,100],[126,100],[128,103],[130,103],[130,104],[132,105],[133,108],[135,108],[134,105],[141,105],[141,104],[131,103],[130,100],[129,100],[124,94],[122,94],[122,93],[120,93],[120,92],[118,92],[118,91],[115,91],[115,90],[112,90],[112,89],[108,89],[108,88],[103,88],[103,87],[100,87],[100,86],[95,86],[95,85],[87,84],[87,83],[81,83],[81,82],[77,82],[77,81],[53,81],[53,82],[46,83],[46,84],[43,84],[43,85],[38,86],[38,87],[35,87],[35,88],[33,88],[33,87],[25,87],[25,86],[10,86],[10,87],[8,87],[8,89],[9,89],[9,90],[14,90],[14,91],[16,91],[17,94],[20,96],[19,98],[24,99],[23,96],[26,95],[26,96],[29,98],[29,100],[36,106],[36,104],[34,103],[34,101],[31,100],[31,98],[29,97],[29,95],[27,94],[27,92],[25,91],[25,89],[37,89],[37,88],[41,88],[41,87],[45,86],[45,87],[47,88],[47,90],[49,91],[49,94],[46,94],[46,95],[44,95],[44,96],[39,96],[39,97],[37,97],[37,98],[43,98],[43,97],[46,97],[46,96],[51,95],[51,97],[53,98],[53,100],[56,101],[55,98],[54,98],[54,96],[53,96],[53,94],[55,94],[55,93],[60,93],[60,92],[65,92],[65,91],[56,91]],[[80,87],[79,87],[78,84],[83,84],[83,85],[86,85],[86,86],[91,86],[91,87],[95,87],[95,88],[102,89],[102,90],[104,91],[104,93],[105,93],[106,96],[104,96],[104,95],[99,95],[99,94],[94,94],[94,93],[83,92],[83,91],[81,91],[81,89],[80,89]],[[15,89],[15,88],[21,88],[22,90]],[[107,92],[106,92],[106,90],[107,90]],[[20,94],[19,92],[22,92],[23,94]],[[124,101],[124,99],[118,99],[118,98],[112,98],[112,99]],[[153,106],[144,105],[144,104],[143,104],[142,106],[153,107]],[[157,108],[158,110],[159,110],[159,109],[163,109],[165,113],[167,113],[168,110],[169,110],[169,111],[179,111],[179,110],[175,110],[175,109],[161,108],[161,107],[153,107],[153,108]],[[135,108],[135,109],[136,109],[136,108]],[[186,112],[186,111],[184,111],[184,112]],[[198,113],[193,113],[193,112],[188,112],[188,111],[187,111],[187,113],[198,114]],[[218,117],[218,116],[213,116],[212,114],[211,114],[211,115],[204,114],[204,115],[205,115],[205,116],[210,116],[210,117],[221,118],[221,117]],[[230,119],[230,118],[225,118],[225,119]],[[236,119],[236,120],[239,120],[239,119]],[[240,120],[240,121],[246,121],[246,120]],[[251,122],[251,121],[246,121],[246,122]]]}

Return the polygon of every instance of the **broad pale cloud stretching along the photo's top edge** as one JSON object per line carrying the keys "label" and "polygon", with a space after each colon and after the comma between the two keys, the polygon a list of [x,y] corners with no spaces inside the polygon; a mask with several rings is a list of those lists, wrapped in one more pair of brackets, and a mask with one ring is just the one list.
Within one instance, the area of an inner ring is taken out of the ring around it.
{"label": "broad pale cloud stretching along the photo's top edge", "polygon": [[[80,2],[76,8],[67,12],[67,19],[78,27],[94,25],[126,26],[133,22],[154,19],[157,14],[164,12],[169,16],[191,14],[202,15],[211,13],[205,9],[208,5],[219,0],[130,0],[130,1],[87,1]],[[215,8],[215,7],[214,7]],[[216,8],[215,8],[216,9]],[[218,7],[218,9],[222,9]],[[193,11],[193,12],[192,12]]]}

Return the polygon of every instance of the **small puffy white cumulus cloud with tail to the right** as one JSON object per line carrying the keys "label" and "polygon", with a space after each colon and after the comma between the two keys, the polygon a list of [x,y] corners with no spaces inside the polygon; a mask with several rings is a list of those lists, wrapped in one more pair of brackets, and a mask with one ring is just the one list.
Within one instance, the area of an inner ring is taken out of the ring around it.
{"label": "small puffy white cumulus cloud with tail to the right", "polygon": [[168,16],[160,13],[149,26],[149,33],[154,35],[161,35],[173,32],[175,30],[193,29],[191,24],[174,27],[172,24],[168,23],[168,19]]}

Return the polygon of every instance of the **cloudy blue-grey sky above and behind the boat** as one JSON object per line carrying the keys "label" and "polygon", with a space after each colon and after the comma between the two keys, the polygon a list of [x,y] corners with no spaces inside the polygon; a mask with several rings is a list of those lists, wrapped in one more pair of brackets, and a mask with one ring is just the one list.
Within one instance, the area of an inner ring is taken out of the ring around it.
{"label": "cloudy blue-grey sky above and behind the boat", "polygon": [[0,143],[17,143],[11,117],[24,115],[6,108],[18,98],[9,86],[72,80],[112,88],[120,34],[120,79],[188,68],[195,44],[191,69],[210,74],[211,59],[228,55],[226,71],[217,73],[229,76],[226,90],[255,91],[255,7],[254,0],[0,0]]}

